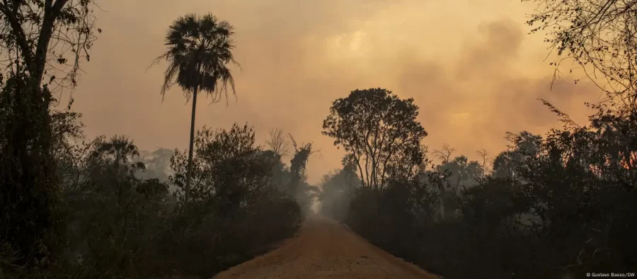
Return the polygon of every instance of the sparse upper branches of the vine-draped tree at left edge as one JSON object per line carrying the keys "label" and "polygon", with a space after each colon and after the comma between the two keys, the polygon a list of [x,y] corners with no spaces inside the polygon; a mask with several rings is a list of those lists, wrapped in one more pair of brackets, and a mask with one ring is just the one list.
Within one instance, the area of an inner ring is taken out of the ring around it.
{"label": "sparse upper branches of the vine-draped tree at left edge", "polygon": [[[0,2],[0,62],[4,74],[27,71],[50,89],[77,85],[83,59],[97,39],[93,0]],[[44,77],[44,79],[42,79]]]}

